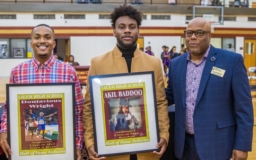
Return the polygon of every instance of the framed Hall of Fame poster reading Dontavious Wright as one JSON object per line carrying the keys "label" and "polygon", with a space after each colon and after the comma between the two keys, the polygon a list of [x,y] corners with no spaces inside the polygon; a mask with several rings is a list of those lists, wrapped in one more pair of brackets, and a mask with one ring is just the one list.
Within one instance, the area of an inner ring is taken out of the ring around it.
{"label": "framed Hall of Fame poster reading Dontavious Wright", "polygon": [[75,83],[6,84],[9,160],[76,159]]}

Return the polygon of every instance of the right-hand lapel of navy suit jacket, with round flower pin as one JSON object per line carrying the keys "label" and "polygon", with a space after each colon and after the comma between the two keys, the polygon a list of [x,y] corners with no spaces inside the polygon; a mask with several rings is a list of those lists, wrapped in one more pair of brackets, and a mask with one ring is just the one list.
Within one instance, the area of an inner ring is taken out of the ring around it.
{"label": "right-hand lapel of navy suit jacket, with round flower pin", "polygon": [[[212,57],[215,57],[215,60],[212,61],[211,60]],[[206,84],[207,84],[209,76],[211,74],[211,70],[212,70],[216,60],[217,60],[216,50],[211,45],[209,54],[208,54],[206,62],[205,62],[203,73],[202,73],[202,76],[201,76],[201,80],[200,80],[200,85],[199,85],[199,89],[198,89],[198,93],[197,93],[197,100],[196,100],[196,105],[195,106],[197,106],[199,100],[201,99],[201,97],[202,97],[202,95],[204,93]]]}

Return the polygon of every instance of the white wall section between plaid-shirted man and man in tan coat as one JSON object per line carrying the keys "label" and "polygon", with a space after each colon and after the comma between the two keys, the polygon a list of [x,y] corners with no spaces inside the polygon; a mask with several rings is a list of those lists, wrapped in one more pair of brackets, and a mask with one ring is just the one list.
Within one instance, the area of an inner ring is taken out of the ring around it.
{"label": "white wall section between plaid-shirted man and man in tan coat", "polygon": [[113,50],[116,43],[114,36],[71,36],[70,54],[80,66],[90,66],[93,57]]}

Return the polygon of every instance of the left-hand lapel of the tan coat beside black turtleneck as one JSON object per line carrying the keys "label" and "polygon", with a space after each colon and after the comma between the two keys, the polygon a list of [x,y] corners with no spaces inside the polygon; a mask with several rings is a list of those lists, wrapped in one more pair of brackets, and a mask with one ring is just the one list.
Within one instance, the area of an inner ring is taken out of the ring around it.
{"label": "left-hand lapel of the tan coat beside black turtleneck", "polygon": [[112,55],[114,61],[116,63],[117,69],[119,73],[128,73],[128,68],[124,57],[122,57],[122,53],[118,49],[117,45],[115,46],[114,50],[112,51]]}

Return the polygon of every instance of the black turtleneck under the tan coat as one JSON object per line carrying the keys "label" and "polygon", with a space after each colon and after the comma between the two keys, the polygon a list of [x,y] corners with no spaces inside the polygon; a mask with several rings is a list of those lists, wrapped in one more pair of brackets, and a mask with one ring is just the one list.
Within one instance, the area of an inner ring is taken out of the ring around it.
{"label": "black turtleneck under the tan coat", "polygon": [[137,44],[129,49],[122,49],[121,47],[119,47],[117,45],[118,49],[122,52],[122,57],[124,57],[126,64],[127,64],[127,68],[128,68],[128,72],[131,72],[131,66],[132,66],[132,58],[134,57],[134,52],[137,48]]}

